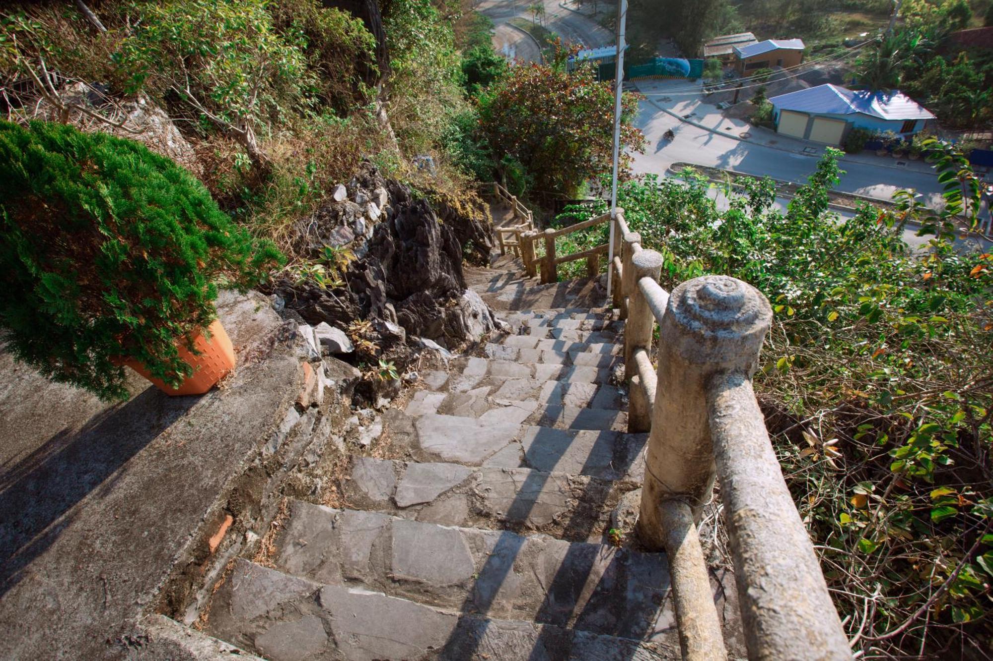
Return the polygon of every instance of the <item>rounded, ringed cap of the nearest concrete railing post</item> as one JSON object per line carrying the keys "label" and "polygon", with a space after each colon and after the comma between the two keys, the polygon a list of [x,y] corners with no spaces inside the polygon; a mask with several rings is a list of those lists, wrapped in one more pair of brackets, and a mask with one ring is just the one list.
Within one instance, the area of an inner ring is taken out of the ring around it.
{"label": "rounded, ringed cap of the nearest concrete railing post", "polygon": [[666,340],[687,361],[751,374],[772,325],[773,309],[748,283],[704,276],[672,291],[662,321]]}

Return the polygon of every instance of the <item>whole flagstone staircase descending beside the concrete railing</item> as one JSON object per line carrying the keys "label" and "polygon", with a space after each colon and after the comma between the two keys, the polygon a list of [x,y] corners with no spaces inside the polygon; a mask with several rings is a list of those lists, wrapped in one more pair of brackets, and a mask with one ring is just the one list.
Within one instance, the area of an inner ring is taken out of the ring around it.
{"label": "whole flagstone staircase descending beside the concrete railing", "polygon": [[[599,279],[535,286],[510,257],[467,279],[505,330],[420,374],[335,506],[290,501],[206,632],[273,661],[680,658],[664,554],[609,535],[647,440],[626,433],[624,323]],[[711,585],[743,656],[733,578]]]}

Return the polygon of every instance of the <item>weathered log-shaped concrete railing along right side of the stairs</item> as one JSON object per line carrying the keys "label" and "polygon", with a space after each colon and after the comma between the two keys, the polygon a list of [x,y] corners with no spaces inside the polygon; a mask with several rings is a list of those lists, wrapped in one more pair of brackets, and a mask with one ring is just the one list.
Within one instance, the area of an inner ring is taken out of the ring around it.
{"label": "weathered log-shaped concrete railing along right side of the stairs", "polygon": [[[542,282],[554,281],[556,264],[607,248],[557,257],[556,236],[608,221],[543,232]],[[613,303],[627,320],[628,429],[649,433],[638,535],[666,551],[683,658],[727,658],[696,529],[718,477],[749,658],[851,658],[752,389],[773,319],[769,301],[726,276],[695,278],[669,294],[658,284],[661,255],[641,247],[623,209],[613,222]],[[536,236],[525,233],[523,255]]]}

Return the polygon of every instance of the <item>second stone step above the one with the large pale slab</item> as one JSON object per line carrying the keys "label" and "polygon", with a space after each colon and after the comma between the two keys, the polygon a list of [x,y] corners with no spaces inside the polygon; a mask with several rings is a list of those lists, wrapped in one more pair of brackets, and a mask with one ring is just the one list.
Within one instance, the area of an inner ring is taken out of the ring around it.
{"label": "second stone step above the one with the large pale slab", "polygon": [[[597,357],[595,354],[587,355]],[[578,376],[586,372],[571,373]],[[472,392],[477,396],[492,397],[497,402],[537,402],[548,406],[576,406],[620,411],[624,408],[625,401],[620,388],[606,383],[512,378],[486,374],[450,374],[444,371],[427,371],[422,377],[424,385],[435,392]]]}

